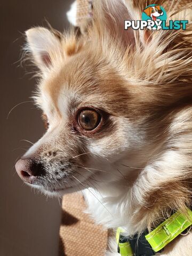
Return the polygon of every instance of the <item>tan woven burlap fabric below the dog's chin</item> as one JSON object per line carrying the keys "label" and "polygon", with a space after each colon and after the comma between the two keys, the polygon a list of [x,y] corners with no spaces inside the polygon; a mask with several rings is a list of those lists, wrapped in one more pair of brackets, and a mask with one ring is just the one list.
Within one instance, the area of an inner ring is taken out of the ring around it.
{"label": "tan woven burlap fabric below the dog's chin", "polygon": [[108,231],[95,225],[84,213],[86,209],[81,194],[63,197],[60,227],[60,256],[104,256]]}

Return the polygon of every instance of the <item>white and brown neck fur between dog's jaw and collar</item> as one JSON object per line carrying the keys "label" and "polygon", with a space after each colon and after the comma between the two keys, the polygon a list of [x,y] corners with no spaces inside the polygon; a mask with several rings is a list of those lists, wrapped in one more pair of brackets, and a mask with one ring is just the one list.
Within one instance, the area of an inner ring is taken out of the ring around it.
{"label": "white and brown neck fur between dog's jaw and collar", "polygon": [[[158,162],[158,165],[161,164]],[[132,173],[135,176],[129,185],[128,179],[124,177],[119,181],[105,183],[105,186],[98,189],[86,190],[88,211],[97,223],[107,228],[122,226],[128,235],[134,235],[146,228],[157,227],[173,210],[189,205],[191,181],[155,183],[161,177],[156,177],[152,165],[138,174],[137,170]],[[153,184],[150,183],[149,175],[154,177]]]}

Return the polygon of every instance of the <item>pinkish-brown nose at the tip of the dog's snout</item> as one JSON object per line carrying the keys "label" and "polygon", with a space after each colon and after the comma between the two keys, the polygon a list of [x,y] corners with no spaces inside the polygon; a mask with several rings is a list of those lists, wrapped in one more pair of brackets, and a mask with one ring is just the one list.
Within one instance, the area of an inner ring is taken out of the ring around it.
{"label": "pinkish-brown nose at the tip of the dog's snout", "polygon": [[37,176],[41,176],[45,173],[44,167],[41,163],[37,163],[34,159],[26,158],[20,159],[15,164],[15,169],[19,177],[27,182],[33,183],[33,180]]}

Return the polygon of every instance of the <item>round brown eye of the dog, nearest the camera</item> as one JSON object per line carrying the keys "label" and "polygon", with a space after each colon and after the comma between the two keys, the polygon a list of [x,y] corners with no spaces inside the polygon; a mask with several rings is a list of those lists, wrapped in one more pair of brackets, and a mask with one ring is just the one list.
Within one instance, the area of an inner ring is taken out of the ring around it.
{"label": "round brown eye of the dog, nearest the camera", "polygon": [[78,124],[87,131],[94,130],[100,121],[100,114],[93,109],[84,109],[78,115]]}

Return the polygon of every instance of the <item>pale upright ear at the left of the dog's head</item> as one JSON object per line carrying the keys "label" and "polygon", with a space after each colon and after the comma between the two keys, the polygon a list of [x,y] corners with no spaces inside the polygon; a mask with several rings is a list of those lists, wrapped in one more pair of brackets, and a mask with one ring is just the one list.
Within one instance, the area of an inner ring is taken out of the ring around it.
{"label": "pale upright ear at the left of the dog's head", "polygon": [[37,27],[26,31],[27,51],[32,54],[35,65],[46,73],[54,61],[62,57],[61,34],[56,31]]}

